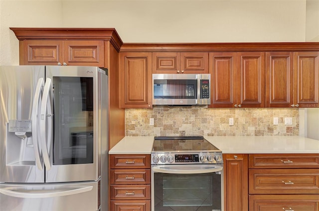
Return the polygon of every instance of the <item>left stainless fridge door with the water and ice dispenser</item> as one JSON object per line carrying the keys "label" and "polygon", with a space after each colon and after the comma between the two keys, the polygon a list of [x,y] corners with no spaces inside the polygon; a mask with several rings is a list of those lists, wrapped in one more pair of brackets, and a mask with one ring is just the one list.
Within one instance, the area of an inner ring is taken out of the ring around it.
{"label": "left stainless fridge door with the water and ice dispenser", "polygon": [[44,66],[0,66],[0,182],[44,182],[44,171],[36,166],[42,163],[35,159],[31,121],[40,78]]}

